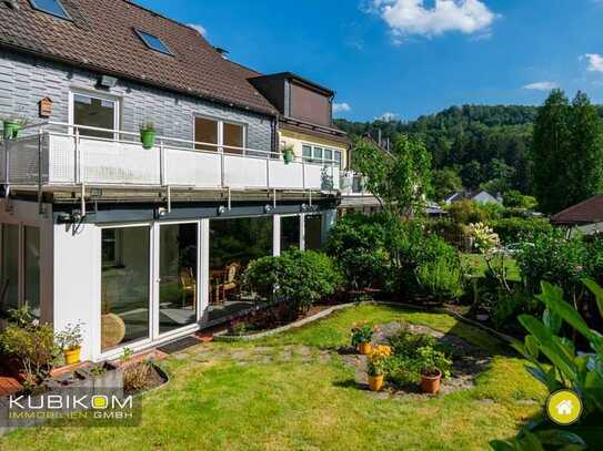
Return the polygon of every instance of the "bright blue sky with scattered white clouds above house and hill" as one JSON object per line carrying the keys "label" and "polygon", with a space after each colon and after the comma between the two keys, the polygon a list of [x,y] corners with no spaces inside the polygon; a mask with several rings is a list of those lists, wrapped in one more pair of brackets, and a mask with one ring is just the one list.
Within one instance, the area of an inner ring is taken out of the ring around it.
{"label": "bright blue sky with scattered white clouds above house and hill", "polygon": [[603,103],[603,0],[139,0],[232,60],[336,91],[340,117],[412,120],[464,103]]}

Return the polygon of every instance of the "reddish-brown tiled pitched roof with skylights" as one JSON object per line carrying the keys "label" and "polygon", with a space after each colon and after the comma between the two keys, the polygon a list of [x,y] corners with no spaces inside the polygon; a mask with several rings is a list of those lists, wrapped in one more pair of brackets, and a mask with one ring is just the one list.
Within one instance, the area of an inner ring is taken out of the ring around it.
{"label": "reddish-brown tiled pitched roof with skylights", "polygon": [[[128,0],[61,0],[72,21],[0,2],[0,45],[223,104],[277,111],[194,29]],[[159,37],[175,57],[150,50],[134,28]]]}

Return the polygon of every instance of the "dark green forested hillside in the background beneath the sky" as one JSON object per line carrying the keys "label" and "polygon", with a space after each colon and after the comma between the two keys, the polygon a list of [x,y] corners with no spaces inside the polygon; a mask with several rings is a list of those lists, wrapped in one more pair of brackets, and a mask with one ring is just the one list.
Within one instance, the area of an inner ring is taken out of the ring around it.
{"label": "dark green forested hillside in the background beneath the sky", "polygon": [[[433,156],[436,195],[461,187],[530,193],[530,142],[535,106],[452,106],[416,121],[349,122],[336,125],[351,135],[393,139],[406,133],[422,140]],[[462,186],[461,186],[462,185]]]}

